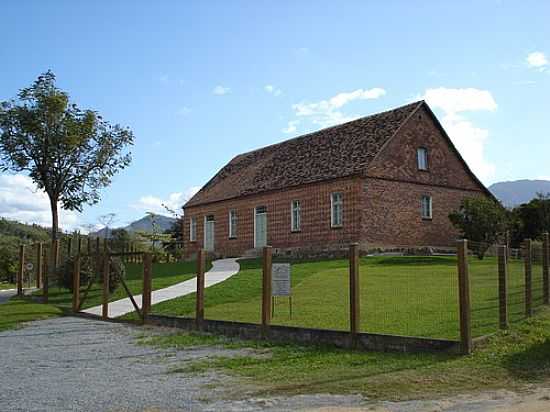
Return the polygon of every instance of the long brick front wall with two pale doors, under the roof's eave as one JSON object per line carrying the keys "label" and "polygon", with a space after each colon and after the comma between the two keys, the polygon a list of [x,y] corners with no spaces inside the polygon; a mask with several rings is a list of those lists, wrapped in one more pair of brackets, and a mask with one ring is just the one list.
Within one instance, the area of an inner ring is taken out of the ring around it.
{"label": "long brick front wall with two pale doors, under the roof's eave", "polygon": [[[206,215],[214,215],[216,220],[214,243],[217,254],[238,256],[253,249],[256,206],[267,207],[267,239],[274,248],[327,248],[357,242],[362,217],[359,206],[364,203],[362,189],[362,179],[348,178],[187,208],[183,223],[186,254],[191,255],[203,247]],[[343,193],[342,228],[330,226],[332,192]],[[298,233],[290,230],[292,200],[299,200],[301,206],[301,231]],[[236,239],[229,239],[230,209],[237,211]],[[189,241],[189,220],[192,216],[197,218],[196,242]]]}

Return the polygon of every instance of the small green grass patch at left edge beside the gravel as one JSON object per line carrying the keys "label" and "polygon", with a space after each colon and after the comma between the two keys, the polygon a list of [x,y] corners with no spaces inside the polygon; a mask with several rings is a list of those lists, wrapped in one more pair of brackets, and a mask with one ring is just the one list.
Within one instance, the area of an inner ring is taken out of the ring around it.
{"label": "small green grass patch at left edge beside the gravel", "polygon": [[18,327],[22,322],[60,316],[61,309],[35,303],[28,299],[12,298],[0,305],[0,331]]}

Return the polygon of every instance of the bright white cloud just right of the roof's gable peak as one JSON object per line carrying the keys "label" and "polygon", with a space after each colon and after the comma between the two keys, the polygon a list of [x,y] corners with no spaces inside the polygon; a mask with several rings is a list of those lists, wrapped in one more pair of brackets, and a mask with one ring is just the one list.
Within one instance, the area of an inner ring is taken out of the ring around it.
{"label": "bright white cloud just right of the roof's gable peak", "polygon": [[475,126],[463,114],[473,111],[495,111],[497,104],[487,90],[473,88],[450,89],[440,87],[428,89],[424,100],[434,109],[441,109],[443,127],[460,151],[473,172],[481,180],[488,180],[495,174],[495,166],[485,158],[485,145],[489,131]]}

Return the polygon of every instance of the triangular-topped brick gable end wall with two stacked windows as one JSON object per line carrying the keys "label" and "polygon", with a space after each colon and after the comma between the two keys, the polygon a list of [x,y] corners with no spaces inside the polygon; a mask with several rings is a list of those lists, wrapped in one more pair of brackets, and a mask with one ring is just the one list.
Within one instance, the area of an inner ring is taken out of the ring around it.
{"label": "triangular-topped brick gable end wall with two stacked windows", "polygon": [[[417,167],[417,149],[428,149],[428,171]],[[483,196],[440,129],[417,111],[379,153],[365,182],[364,239],[369,246],[447,246],[457,232],[448,215],[465,197]],[[432,197],[432,220],[423,220],[420,199]]]}

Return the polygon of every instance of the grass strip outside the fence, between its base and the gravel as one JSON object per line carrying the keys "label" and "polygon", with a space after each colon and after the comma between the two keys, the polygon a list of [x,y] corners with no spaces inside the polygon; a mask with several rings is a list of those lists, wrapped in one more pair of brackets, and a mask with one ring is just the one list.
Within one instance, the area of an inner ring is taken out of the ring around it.
{"label": "grass strip outside the fence, between its base and the gravel", "polygon": [[186,362],[178,372],[221,370],[257,387],[257,393],[361,393],[370,399],[418,399],[489,389],[522,389],[550,378],[550,310],[499,332],[473,355],[355,352],[327,347],[273,346],[181,333],[144,338],[143,344],[186,348],[220,344],[250,347],[258,357]]}

